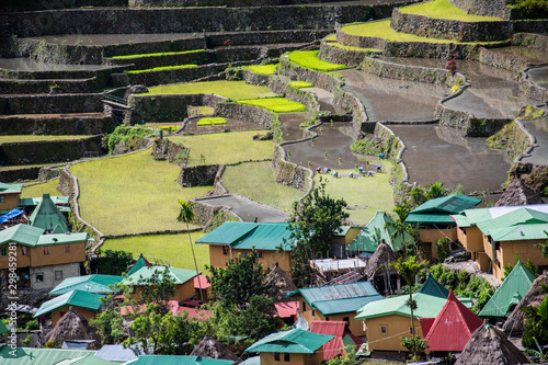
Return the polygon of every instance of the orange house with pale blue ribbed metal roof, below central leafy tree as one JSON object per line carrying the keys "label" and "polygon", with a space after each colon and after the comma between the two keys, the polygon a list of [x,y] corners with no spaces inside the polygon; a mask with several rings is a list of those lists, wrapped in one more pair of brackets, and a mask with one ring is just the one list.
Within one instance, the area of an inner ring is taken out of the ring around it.
{"label": "orange house with pale blue ribbed metal roof, below central leafy tree", "polygon": [[362,322],[354,319],[364,305],[384,299],[369,282],[300,288],[288,296],[299,303],[300,316],[315,320],[344,321],[352,333],[365,335]]}

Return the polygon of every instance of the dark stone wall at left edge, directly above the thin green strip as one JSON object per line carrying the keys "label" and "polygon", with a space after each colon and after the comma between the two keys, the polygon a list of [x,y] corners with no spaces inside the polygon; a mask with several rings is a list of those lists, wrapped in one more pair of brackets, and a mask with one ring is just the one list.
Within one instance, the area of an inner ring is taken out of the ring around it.
{"label": "dark stone wall at left edge, directly above the thin green strip", "polygon": [[0,118],[0,135],[100,135],[116,127],[111,116],[18,117]]}

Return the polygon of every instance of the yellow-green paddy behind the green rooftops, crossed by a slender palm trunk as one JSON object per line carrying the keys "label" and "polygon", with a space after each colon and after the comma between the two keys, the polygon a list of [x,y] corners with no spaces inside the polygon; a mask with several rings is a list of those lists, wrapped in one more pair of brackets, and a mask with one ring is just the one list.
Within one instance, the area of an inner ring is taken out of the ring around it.
{"label": "yellow-green paddy behind the green rooftops, crossed by a slender palm trunk", "polygon": [[[180,228],[185,227],[184,224],[179,225],[181,226]],[[207,244],[195,244],[194,241],[203,236],[205,236],[203,232],[191,233],[194,253],[196,254],[196,264],[202,272],[204,272],[204,265],[209,264],[209,248]],[[142,253],[145,258],[152,256],[169,261],[170,265],[174,267],[194,270],[189,233],[107,239],[101,246],[101,250],[106,249],[133,252],[135,259]],[[151,260],[153,261],[153,259]]]}

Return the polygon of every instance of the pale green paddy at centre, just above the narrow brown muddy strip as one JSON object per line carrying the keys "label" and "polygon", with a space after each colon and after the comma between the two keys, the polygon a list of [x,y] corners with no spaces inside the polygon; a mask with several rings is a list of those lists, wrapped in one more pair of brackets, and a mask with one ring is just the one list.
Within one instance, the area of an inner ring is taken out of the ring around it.
{"label": "pale green paddy at centre, just above the narrow brown muddy strip", "polygon": [[293,202],[305,195],[304,191],[276,182],[276,171],[271,162],[248,162],[227,167],[222,185],[230,194],[239,194],[261,204],[290,213]]}

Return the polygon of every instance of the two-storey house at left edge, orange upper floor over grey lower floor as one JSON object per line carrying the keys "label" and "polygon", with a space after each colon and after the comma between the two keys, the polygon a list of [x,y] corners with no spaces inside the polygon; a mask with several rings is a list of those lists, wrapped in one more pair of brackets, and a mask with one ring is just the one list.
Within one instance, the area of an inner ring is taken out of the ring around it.
{"label": "two-storey house at left edge, orange upper floor over grey lower floor", "polygon": [[88,233],[44,235],[44,229],[16,225],[0,231],[0,277],[5,286],[10,247],[16,252],[20,288],[52,289],[65,278],[80,276]]}

